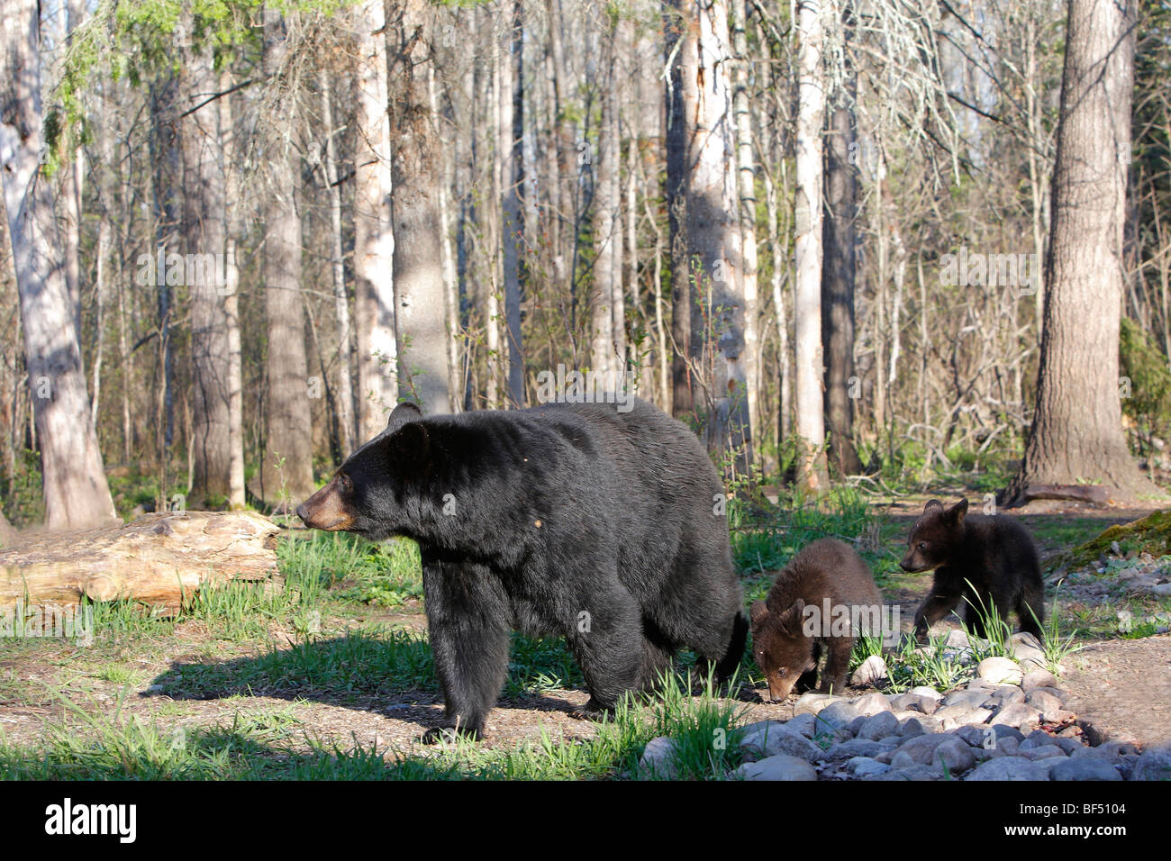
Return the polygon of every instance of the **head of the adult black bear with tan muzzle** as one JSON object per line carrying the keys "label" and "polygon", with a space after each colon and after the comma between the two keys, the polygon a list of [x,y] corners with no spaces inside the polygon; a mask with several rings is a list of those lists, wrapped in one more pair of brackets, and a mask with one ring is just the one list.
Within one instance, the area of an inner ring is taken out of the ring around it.
{"label": "head of the adult black bear with tan muzzle", "polygon": [[371,541],[409,534],[422,500],[410,492],[431,465],[431,438],[423,414],[400,403],[386,429],[345,459],[334,477],[296,513],[304,525],[326,532],[356,532]]}

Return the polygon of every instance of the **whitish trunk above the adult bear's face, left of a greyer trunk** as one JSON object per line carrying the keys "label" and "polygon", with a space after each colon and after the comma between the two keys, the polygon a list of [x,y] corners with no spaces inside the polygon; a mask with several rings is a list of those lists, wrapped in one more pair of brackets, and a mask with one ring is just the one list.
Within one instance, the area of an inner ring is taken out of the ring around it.
{"label": "whitish trunk above the adult bear's face, left of a greyer trunk", "polygon": [[398,403],[395,340],[395,234],[392,231],[386,25],[382,0],[355,9],[357,61],[354,152],[354,316],[357,333],[358,439],[386,426]]}

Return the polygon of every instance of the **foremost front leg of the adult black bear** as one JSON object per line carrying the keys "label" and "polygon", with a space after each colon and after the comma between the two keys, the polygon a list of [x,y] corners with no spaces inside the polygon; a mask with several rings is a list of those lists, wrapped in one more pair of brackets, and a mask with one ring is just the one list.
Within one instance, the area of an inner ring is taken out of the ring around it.
{"label": "foremost front leg of the adult black bear", "polygon": [[446,722],[423,736],[479,739],[508,671],[508,596],[486,566],[423,553],[423,594]]}

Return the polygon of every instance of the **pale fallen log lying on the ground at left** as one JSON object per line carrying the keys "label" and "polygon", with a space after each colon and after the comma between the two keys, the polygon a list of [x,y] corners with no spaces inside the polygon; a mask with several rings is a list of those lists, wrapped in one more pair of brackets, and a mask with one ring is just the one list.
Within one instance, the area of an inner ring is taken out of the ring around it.
{"label": "pale fallen log lying on the ground at left", "polygon": [[169,512],[43,532],[0,551],[0,607],[129,599],[177,611],[205,583],[278,578],[276,533],[255,512]]}

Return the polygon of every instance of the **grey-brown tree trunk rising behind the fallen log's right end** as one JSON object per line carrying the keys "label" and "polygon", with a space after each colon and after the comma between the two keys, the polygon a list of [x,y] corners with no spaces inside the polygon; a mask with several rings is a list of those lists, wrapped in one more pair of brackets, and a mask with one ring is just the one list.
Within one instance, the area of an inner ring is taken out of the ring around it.
{"label": "grey-brown tree trunk rising behind the fallen log's right end", "polygon": [[[283,91],[288,41],[282,16],[265,7],[262,66],[269,87]],[[265,453],[260,496],[266,503],[293,506],[308,499],[313,484],[313,422],[309,415],[309,365],[304,350],[304,303],[301,298],[301,216],[296,187],[300,171],[292,146],[296,94],[274,98],[280,112],[271,124],[267,156],[271,187],[265,194],[265,317],[268,323],[265,401]]]}

